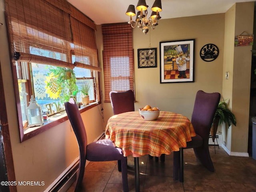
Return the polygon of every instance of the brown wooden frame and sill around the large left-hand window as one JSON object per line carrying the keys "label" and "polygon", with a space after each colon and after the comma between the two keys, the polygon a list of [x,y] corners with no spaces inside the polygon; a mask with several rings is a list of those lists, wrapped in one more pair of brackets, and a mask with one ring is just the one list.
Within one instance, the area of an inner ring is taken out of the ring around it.
{"label": "brown wooden frame and sill around the large left-hand window", "polygon": [[[72,50],[72,53],[74,53],[74,51]],[[72,56],[70,54],[70,56]],[[22,67],[22,65],[26,65],[25,70],[24,67]],[[30,62],[21,62],[21,61],[16,61],[15,63],[12,64],[13,68],[13,75],[14,75],[14,90],[15,90],[15,96],[16,96],[16,103],[17,103],[17,110],[18,110],[18,121],[19,121],[19,130],[20,130],[20,142],[24,142],[62,122],[65,122],[66,120],[68,120],[68,116],[66,114],[66,111],[62,111],[60,113],[58,113],[58,116],[60,115],[60,118],[57,118],[56,120],[50,122],[50,121],[44,121],[44,124],[42,126],[34,126],[31,128],[28,128],[28,121],[22,121],[22,106],[21,106],[21,100],[20,100],[20,92],[19,92],[19,82],[23,82],[26,83],[26,92],[28,93],[28,95],[26,95],[26,103],[27,106],[29,105],[29,101],[30,101],[30,96],[34,95],[34,86],[33,86],[33,78],[32,77],[32,67],[31,67],[31,63]],[[23,71],[22,71],[23,69]],[[26,73],[26,74],[25,74]],[[94,82],[94,98],[95,100],[90,100],[89,105],[87,106],[81,106],[81,108],[79,109],[80,113],[85,112],[87,110],[90,110],[91,108],[101,104],[101,97],[100,94],[97,95],[97,89],[100,90],[100,76],[99,76],[99,72],[97,71],[93,71],[90,70],[91,76],[88,79],[93,79]],[[18,78],[19,76],[19,78]],[[25,77],[24,77],[25,76]],[[28,79],[26,79],[28,78]],[[84,78],[76,78],[76,79],[84,79]],[[98,85],[98,87],[97,87]],[[48,118],[55,118],[56,115],[52,115],[49,116]]]}

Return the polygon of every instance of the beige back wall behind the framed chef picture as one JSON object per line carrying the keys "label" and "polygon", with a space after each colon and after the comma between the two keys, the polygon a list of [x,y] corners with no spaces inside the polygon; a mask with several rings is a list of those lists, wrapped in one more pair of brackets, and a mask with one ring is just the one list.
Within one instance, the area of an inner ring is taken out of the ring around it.
{"label": "beige back wall behind the framed chef picture", "polygon": [[[102,38],[100,26],[98,26],[97,31],[98,37]],[[159,42],[184,39],[195,39],[195,82],[160,84]],[[137,49],[148,48],[150,42],[152,48],[157,48],[157,67],[138,68]],[[215,44],[220,50],[218,58],[212,62],[204,62],[199,56],[202,46],[208,43]],[[133,46],[137,101],[135,110],[149,104],[157,106],[160,110],[181,113],[191,118],[194,99],[198,90],[222,92],[224,14],[161,19],[156,29],[151,29],[146,35],[138,28],[134,28]],[[102,46],[99,48],[101,53]],[[103,84],[104,79],[102,77]],[[111,104],[104,103],[104,125],[112,114]]]}

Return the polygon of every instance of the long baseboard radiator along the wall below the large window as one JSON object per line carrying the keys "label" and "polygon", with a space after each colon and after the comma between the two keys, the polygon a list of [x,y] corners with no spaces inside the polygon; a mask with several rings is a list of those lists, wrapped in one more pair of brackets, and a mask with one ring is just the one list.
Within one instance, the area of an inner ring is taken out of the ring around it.
{"label": "long baseboard radiator along the wall below the large window", "polygon": [[[102,132],[95,140],[102,140],[105,138],[105,133]],[[86,165],[89,162],[86,161]],[[44,192],[66,192],[68,188],[76,181],[76,173],[79,166],[79,157],[69,166],[52,185],[50,185]]]}

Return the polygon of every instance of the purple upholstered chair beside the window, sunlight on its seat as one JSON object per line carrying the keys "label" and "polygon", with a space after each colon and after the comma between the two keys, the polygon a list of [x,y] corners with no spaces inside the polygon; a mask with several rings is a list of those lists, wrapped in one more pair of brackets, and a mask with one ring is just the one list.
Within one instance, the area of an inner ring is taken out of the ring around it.
{"label": "purple upholstered chair beside the window, sunlight on its seat", "polygon": [[76,176],[75,192],[81,186],[86,160],[88,161],[116,161],[120,160],[122,166],[122,182],[123,191],[128,192],[128,178],[127,178],[127,158],[120,148],[116,148],[113,142],[109,139],[98,140],[87,144],[86,130],[82,117],[73,98],[69,102],[65,102],[66,112],[68,118],[76,135],[79,146],[80,162],[78,173]]}

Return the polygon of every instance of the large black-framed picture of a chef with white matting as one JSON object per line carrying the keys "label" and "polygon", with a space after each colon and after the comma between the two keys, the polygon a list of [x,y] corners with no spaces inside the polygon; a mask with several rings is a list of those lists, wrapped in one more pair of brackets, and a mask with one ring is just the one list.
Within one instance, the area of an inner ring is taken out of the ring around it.
{"label": "large black-framed picture of a chef with white matting", "polygon": [[195,40],[160,42],[160,83],[194,82]]}

